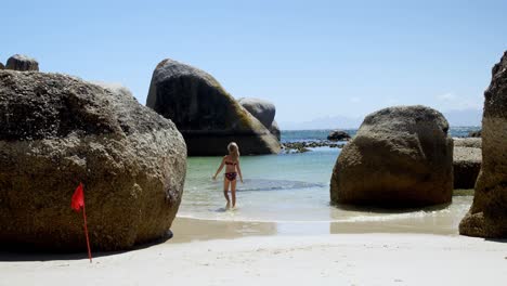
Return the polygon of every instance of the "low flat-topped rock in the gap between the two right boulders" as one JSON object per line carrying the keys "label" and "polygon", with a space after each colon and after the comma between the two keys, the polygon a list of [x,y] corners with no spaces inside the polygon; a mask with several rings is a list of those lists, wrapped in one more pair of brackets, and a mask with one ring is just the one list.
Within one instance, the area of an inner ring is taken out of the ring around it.
{"label": "low flat-topped rock in the gap between the two right boulders", "polygon": [[454,188],[473,188],[481,170],[481,148],[454,146]]}

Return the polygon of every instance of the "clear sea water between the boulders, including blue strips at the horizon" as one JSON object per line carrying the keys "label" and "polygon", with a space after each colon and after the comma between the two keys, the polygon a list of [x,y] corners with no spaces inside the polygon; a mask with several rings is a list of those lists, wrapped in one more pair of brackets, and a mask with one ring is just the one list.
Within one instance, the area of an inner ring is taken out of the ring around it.
{"label": "clear sea water between the boulders, including blue strips at the horizon", "polygon": [[[464,136],[477,127],[452,128]],[[355,130],[348,130],[351,134]],[[329,130],[283,131],[283,142],[325,140]],[[329,205],[329,180],[340,148],[318,147],[302,154],[242,156],[245,183],[237,183],[237,208],[225,209],[222,176],[211,179],[221,157],[190,157],[179,217],[249,222],[384,222],[425,220],[457,227],[468,211],[471,195],[454,196],[447,206],[425,209],[351,209]],[[225,155],[225,153],[224,153]]]}

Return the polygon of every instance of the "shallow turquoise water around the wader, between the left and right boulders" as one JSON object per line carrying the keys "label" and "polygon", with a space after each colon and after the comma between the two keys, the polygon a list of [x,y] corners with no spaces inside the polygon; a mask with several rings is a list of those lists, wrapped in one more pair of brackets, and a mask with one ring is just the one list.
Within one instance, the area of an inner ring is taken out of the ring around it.
{"label": "shallow turquoise water around the wader, between the left and right boulders", "polygon": [[334,150],[242,157],[245,183],[238,182],[238,208],[233,212],[223,211],[222,180],[211,180],[220,158],[190,158],[179,214],[221,220],[329,220],[328,180],[337,155]]}

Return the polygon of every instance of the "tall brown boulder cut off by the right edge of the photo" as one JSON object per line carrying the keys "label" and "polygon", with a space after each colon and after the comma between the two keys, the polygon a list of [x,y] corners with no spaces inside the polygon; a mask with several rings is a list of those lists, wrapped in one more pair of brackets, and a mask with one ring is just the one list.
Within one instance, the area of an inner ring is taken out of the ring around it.
{"label": "tall brown boulder cut off by the right edge of the photo", "polygon": [[507,52],[493,67],[484,92],[482,166],[472,206],[459,233],[480,237],[507,237]]}

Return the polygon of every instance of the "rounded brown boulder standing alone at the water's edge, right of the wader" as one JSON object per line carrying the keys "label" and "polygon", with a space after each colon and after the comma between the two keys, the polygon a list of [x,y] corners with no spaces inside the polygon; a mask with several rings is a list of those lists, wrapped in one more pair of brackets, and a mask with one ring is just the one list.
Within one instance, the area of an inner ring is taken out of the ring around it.
{"label": "rounded brown boulder standing alone at the water's edge, right of the wader", "polygon": [[441,113],[420,105],[366,116],[336,161],[332,203],[402,208],[450,203],[453,140],[447,130]]}

